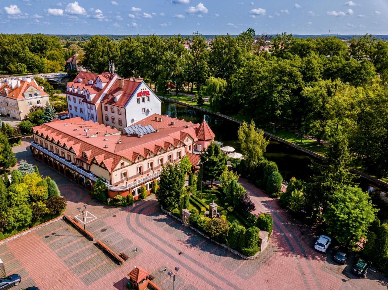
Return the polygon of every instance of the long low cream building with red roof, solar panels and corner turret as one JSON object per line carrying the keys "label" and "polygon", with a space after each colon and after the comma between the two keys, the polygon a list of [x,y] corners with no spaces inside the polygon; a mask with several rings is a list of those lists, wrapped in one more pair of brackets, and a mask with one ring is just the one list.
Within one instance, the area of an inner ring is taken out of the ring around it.
{"label": "long low cream building with red roof, solar panels and corner turret", "polygon": [[83,185],[90,186],[100,177],[110,198],[131,192],[137,199],[142,185],[152,189],[163,164],[178,162],[186,154],[197,163],[199,158],[193,153],[197,153],[199,144],[208,144],[204,138],[211,136],[214,141],[205,120],[193,124],[152,114],[131,128],[135,130],[132,134],[123,135],[117,128],[92,120],[55,118],[33,127],[31,147],[36,158]]}

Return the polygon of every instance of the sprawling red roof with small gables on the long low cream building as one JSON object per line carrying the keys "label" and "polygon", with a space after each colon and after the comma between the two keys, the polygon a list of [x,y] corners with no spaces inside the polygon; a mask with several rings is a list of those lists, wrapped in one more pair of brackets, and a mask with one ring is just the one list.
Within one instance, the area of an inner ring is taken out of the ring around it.
{"label": "sprawling red roof with small gables on the long low cream building", "polygon": [[[185,120],[153,114],[135,124],[152,125],[158,132],[142,137],[134,134],[121,135],[117,129],[105,127],[91,120],[85,122],[79,117],[67,120],[55,119],[53,122],[33,127],[33,132],[43,137],[49,136],[56,143],[66,144],[77,158],[86,153],[88,157],[85,159],[86,163],[91,164],[95,160],[99,165],[104,165],[109,172],[116,168],[122,158],[136,162],[139,155],[147,158],[149,152],[158,154],[160,148],[168,150],[171,144],[175,147],[180,146],[187,136],[194,142],[198,141],[196,132],[200,125]],[[88,136],[93,137],[88,137],[85,129]]]}

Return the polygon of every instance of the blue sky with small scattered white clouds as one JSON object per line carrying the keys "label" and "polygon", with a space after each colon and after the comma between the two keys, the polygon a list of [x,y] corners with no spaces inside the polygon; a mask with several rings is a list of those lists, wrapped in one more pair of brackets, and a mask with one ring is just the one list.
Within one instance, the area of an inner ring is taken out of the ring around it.
{"label": "blue sky with small scattered white clouds", "polygon": [[1,0],[0,32],[388,34],[387,0]]}

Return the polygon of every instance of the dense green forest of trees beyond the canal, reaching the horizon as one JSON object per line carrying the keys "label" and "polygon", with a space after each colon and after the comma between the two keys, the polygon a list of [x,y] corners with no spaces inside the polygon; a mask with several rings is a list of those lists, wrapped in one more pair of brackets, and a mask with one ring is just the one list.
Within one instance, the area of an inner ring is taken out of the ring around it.
{"label": "dense green forest of trees beyond the canal, reaching the horizon", "polygon": [[190,39],[96,35],[82,48],[71,41],[62,48],[57,36],[1,34],[0,69],[23,63],[42,72],[74,51],[92,72],[107,71],[113,60],[121,77],[144,77],[161,93],[167,84],[207,89],[214,110],[261,126],[292,125],[318,143],[340,131],[368,172],[388,174],[388,42],[372,35],[349,43],[336,36],[256,36],[250,28],[210,44],[199,33]]}

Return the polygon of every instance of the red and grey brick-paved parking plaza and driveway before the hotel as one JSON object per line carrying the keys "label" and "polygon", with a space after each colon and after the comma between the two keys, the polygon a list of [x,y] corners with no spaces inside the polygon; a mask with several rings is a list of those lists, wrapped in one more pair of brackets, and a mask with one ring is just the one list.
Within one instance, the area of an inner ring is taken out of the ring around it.
{"label": "red and grey brick-paved parking plaza and driveway before the hotel", "polygon": [[[24,146],[23,146],[24,145]],[[257,205],[274,217],[270,245],[254,261],[245,261],[203,239],[192,230],[163,214],[153,199],[134,206],[113,208],[90,199],[87,190],[52,168],[33,160],[26,143],[16,148],[18,159],[38,165],[42,175],[50,175],[68,199],[66,213],[88,204],[97,219],[87,229],[116,252],[130,259],[118,266],[93,242],[64,221],[57,221],[16,240],[0,245],[0,257],[8,273],[19,273],[23,282],[13,289],[36,285],[41,289],[125,289],[126,274],[141,266],[155,276],[162,289],[172,289],[166,272],[180,271],[176,289],[386,289],[388,280],[369,271],[359,279],[349,264],[333,262],[331,253],[312,249],[310,228],[299,225],[275,201],[246,180],[240,180]],[[133,251],[137,247],[138,251]],[[181,254],[179,254],[182,252]],[[164,267],[166,272],[161,271]]]}

